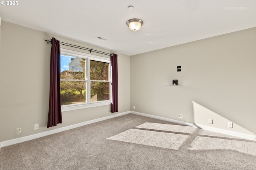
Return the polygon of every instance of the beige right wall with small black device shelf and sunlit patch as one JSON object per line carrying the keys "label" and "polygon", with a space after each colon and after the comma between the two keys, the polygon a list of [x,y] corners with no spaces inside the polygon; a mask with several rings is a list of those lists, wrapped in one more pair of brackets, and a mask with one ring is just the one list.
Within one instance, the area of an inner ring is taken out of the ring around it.
{"label": "beige right wall with small black device shelf and sunlit patch", "polygon": [[[255,64],[256,28],[131,56],[130,109],[255,134]],[[164,86],[172,79],[182,86]]]}

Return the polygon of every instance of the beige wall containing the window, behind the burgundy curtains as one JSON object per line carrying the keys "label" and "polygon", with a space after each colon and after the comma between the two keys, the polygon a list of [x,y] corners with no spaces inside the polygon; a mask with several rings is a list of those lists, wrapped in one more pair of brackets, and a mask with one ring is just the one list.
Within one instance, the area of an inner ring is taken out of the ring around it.
{"label": "beige wall containing the window, behind the burgundy curtains", "polygon": [[[46,128],[48,119],[50,49],[45,40],[52,37],[66,43],[109,51],[77,42],[67,38],[18,26],[8,22],[1,23],[0,51],[0,142],[55,128],[113,115],[110,105],[92,107],[62,113],[62,124]],[[62,48],[72,49],[62,46]],[[76,51],[88,53],[81,49]],[[130,56],[118,54],[118,104],[119,112],[130,111]],[[95,53],[94,55],[98,55]],[[107,57],[102,55],[102,57]],[[3,63],[11,63],[4,65]],[[39,129],[34,130],[34,124]],[[16,134],[21,127],[22,133]]]}

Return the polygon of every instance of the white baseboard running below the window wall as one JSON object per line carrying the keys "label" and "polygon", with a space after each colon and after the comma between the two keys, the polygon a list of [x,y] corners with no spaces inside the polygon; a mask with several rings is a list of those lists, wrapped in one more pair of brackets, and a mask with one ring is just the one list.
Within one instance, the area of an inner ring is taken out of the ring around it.
{"label": "white baseboard running below the window wall", "polygon": [[3,141],[3,142],[0,142],[0,151],[1,151],[1,147],[4,147],[4,146],[9,146],[9,145],[17,144],[17,143],[20,143],[20,142],[25,142],[25,141],[28,141],[28,140],[32,140],[32,139],[40,138],[40,137],[43,137],[43,136],[47,136],[47,135],[50,135],[50,134],[62,132],[62,131],[65,131],[65,130],[70,130],[72,128],[82,127],[84,125],[89,125],[91,123],[96,123],[96,122],[104,121],[104,120],[111,119],[111,118],[114,118],[114,117],[119,117],[119,116],[122,116],[122,115],[126,115],[128,113],[131,113],[131,112],[127,111],[127,112],[123,112],[123,113],[118,113],[118,114],[115,114],[115,115],[110,115],[110,116],[94,119],[94,120],[91,120],[91,121],[86,121],[86,122],[78,123],[78,124],[75,124],[75,125],[70,125],[70,126],[67,126],[67,127],[57,128],[57,129],[54,129],[54,130],[49,130],[49,131],[46,131],[46,132],[32,134],[32,135],[29,135],[29,136],[24,136],[24,137],[12,139],[12,140],[6,140],[6,141]]}

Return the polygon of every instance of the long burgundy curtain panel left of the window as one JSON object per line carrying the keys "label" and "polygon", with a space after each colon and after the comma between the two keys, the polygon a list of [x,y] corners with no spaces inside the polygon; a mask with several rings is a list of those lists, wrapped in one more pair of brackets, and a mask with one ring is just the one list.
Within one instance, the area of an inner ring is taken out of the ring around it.
{"label": "long burgundy curtain panel left of the window", "polygon": [[62,123],[60,101],[60,42],[52,38],[50,63],[50,100],[47,128]]}

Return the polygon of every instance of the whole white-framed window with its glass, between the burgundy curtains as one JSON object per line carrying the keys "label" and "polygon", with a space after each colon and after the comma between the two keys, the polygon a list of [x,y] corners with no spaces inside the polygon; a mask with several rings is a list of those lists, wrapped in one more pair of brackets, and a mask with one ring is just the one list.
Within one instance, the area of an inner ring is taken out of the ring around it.
{"label": "whole white-framed window with its glass, between the burgundy curtains", "polygon": [[61,49],[60,63],[62,111],[110,104],[109,58]]}

